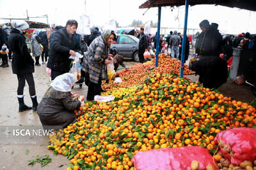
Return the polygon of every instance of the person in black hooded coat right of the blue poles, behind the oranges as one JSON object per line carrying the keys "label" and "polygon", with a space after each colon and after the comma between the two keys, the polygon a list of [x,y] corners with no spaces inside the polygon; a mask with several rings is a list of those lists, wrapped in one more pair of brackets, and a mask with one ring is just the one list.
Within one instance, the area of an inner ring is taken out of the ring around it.
{"label": "person in black hooded coat right of the blue poles, behind the oranges", "polygon": [[200,75],[199,81],[204,87],[217,89],[227,82],[227,63],[220,58],[221,34],[208,20],[203,20],[199,25],[202,29],[196,49],[199,60],[191,62],[189,69]]}

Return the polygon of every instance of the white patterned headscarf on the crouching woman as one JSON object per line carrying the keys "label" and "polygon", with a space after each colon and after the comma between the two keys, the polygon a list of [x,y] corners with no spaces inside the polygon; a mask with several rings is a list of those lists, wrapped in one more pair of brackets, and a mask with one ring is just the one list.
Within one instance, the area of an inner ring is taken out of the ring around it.
{"label": "white patterned headscarf on the crouching woman", "polygon": [[74,74],[65,73],[52,80],[51,87],[57,91],[71,92],[71,89],[76,81],[77,78]]}

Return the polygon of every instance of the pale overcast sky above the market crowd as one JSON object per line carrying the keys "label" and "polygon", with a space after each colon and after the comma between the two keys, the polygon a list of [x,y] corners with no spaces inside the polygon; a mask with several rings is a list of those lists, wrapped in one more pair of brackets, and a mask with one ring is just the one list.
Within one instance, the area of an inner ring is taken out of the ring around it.
{"label": "pale overcast sky above the market crowd", "polygon": [[[84,13],[90,15],[93,24],[102,26],[109,20],[115,19],[119,25],[127,26],[132,20],[157,22],[157,8],[139,9],[140,4],[146,0],[0,0],[0,17],[26,18],[26,10],[29,17],[47,14],[49,24],[65,25],[68,19],[79,20]],[[145,13],[145,11],[147,12]],[[143,15],[145,13],[145,15]],[[222,32],[238,34],[240,32],[256,33],[256,12],[239,10],[214,5],[189,6],[188,28],[199,29],[198,24],[207,19],[209,22],[219,24]],[[46,18],[31,19],[46,23]],[[254,21],[254,22],[253,22]],[[3,23],[0,20],[0,23]],[[184,6],[163,7],[161,13],[161,27],[182,28],[184,25]]]}

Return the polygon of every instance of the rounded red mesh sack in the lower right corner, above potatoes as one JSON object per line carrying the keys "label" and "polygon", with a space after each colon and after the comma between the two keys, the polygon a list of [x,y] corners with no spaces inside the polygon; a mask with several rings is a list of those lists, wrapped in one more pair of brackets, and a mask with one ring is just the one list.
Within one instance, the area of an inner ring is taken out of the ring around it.
{"label": "rounded red mesh sack in the lower right corner, above potatoes", "polygon": [[[220,132],[214,141],[220,144],[223,157],[239,165],[244,160],[256,159],[256,129],[239,127]],[[231,149],[231,150],[230,150]],[[233,152],[231,160],[230,152]]]}

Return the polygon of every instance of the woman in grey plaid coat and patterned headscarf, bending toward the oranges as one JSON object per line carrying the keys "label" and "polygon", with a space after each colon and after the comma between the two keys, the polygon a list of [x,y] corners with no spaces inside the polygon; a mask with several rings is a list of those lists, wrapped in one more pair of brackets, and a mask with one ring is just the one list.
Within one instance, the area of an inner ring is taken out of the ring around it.
{"label": "woman in grey plaid coat and patterned headscarf, bending toward the oranges", "polygon": [[110,64],[108,58],[113,56],[108,54],[108,49],[114,37],[110,31],[104,32],[92,41],[85,53],[82,69],[89,76],[85,78],[89,80],[86,82],[88,85],[87,101],[93,101],[95,95],[100,95],[101,81],[108,79],[107,65]]}

